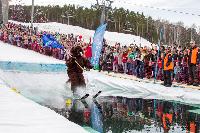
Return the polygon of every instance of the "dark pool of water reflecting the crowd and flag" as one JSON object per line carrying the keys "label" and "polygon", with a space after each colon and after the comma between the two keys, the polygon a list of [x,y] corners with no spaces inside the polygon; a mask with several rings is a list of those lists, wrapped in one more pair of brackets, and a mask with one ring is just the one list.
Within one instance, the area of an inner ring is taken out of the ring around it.
{"label": "dark pool of water reflecting the crowd and flag", "polygon": [[52,109],[70,121],[103,133],[200,132],[198,105],[195,107],[153,99],[101,97],[91,105],[86,101],[74,101],[64,109]]}

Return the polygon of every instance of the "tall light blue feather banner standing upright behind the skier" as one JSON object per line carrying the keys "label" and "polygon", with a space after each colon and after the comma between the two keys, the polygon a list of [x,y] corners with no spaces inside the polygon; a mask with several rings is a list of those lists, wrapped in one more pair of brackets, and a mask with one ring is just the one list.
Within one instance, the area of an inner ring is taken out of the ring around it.
{"label": "tall light blue feather banner standing upright behind the skier", "polygon": [[99,66],[99,58],[103,47],[103,38],[106,31],[106,26],[107,24],[100,25],[94,34],[93,44],[92,44],[92,60],[91,60],[91,64],[94,67]]}

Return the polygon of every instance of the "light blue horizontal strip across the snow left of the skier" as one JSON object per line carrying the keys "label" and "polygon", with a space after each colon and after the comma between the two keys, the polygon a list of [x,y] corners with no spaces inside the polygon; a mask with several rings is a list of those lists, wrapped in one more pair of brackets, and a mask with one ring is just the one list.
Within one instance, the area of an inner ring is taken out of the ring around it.
{"label": "light blue horizontal strip across the snow left of the skier", "polygon": [[65,64],[40,64],[0,61],[0,69],[27,72],[66,72]]}

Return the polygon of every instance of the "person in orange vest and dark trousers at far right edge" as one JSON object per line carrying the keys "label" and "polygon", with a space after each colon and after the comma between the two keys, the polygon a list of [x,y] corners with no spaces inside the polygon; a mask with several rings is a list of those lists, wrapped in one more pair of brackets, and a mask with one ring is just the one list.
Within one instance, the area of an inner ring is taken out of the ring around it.
{"label": "person in orange vest and dark trousers at far right edge", "polygon": [[188,85],[198,86],[198,78],[197,78],[197,65],[198,65],[198,47],[196,46],[194,41],[190,42],[191,49],[189,52],[189,83]]}

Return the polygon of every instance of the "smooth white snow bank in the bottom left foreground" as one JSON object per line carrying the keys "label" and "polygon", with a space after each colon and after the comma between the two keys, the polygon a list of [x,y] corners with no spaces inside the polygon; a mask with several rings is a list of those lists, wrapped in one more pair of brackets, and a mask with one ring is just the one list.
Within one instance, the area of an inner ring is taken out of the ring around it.
{"label": "smooth white snow bank in the bottom left foreground", "polygon": [[85,133],[54,111],[15,93],[0,81],[1,133]]}

